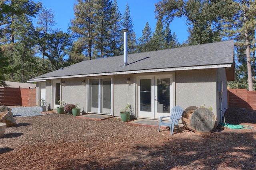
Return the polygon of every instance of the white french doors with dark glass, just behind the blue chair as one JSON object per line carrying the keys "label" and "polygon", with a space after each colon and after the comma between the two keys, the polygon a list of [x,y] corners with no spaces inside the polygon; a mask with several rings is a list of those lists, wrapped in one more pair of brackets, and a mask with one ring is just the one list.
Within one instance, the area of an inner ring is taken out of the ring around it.
{"label": "white french doors with dark glass, just behind the blue chair", "polygon": [[173,107],[172,75],[138,78],[138,117],[159,119]]}

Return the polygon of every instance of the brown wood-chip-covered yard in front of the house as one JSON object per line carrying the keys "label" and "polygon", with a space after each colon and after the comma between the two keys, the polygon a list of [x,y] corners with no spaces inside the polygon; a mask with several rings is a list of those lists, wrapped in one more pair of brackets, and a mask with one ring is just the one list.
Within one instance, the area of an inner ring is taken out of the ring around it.
{"label": "brown wood-chip-covered yard in front of the house", "polygon": [[256,111],[229,109],[211,134],[67,114],[15,117],[0,139],[0,170],[255,170]]}

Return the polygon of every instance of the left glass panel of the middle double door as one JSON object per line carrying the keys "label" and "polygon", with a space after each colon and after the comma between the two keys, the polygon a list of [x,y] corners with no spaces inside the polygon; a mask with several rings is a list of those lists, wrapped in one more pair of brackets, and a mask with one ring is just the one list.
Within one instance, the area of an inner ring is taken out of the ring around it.
{"label": "left glass panel of the middle double door", "polygon": [[99,80],[89,80],[89,111],[98,113],[99,108]]}

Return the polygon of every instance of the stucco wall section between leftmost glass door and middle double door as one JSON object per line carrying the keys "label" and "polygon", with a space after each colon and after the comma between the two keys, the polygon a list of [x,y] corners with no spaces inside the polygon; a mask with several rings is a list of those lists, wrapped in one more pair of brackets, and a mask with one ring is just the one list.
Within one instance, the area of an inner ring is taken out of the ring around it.
{"label": "stucco wall section between leftmost glass door and middle double door", "polygon": [[87,103],[87,84],[82,85],[82,81],[86,78],[65,78],[62,81],[65,81],[64,86],[61,90],[61,100],[64,103],[68,104],[79,104],[81,111],[86,111]]}

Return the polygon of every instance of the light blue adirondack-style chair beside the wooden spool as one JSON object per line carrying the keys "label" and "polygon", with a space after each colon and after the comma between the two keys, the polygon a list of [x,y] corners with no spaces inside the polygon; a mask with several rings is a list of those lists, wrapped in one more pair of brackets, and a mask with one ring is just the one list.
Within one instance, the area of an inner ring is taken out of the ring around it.
{"label": "light blue adirondack-style chair beside the wooden spool", "polygon": [[[161,116],[160,117],[160,123],[159,123],[158,132],[160,131],[160,127],[161,126],[168,126],[168,127],[170,127],[171,135],[173,133],[174,126],[178,126],[178,129],[180,131],[180,127],[178,125],[178,121],[181,119],[182,113],[183,113],[183,109],[180,106],[176,106],[176,107],[172,108],[170,116]],[[166,117],[170,117],[169,122],[163,121],[163,118],[166,118]]]}

